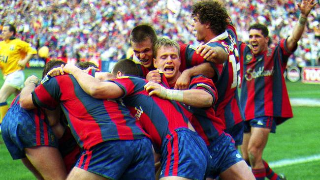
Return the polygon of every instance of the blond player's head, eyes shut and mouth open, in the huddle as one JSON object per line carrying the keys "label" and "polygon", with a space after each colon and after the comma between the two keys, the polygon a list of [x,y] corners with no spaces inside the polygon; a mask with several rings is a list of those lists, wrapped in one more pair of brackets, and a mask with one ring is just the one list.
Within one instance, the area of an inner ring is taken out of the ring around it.
{"label": "blond player's head, eyes shut and mouth open, in the huddle", "polygon": [[154,66],[162,71],[168,81],[174,81],[180,76],[180,46],[177,42],[161,38],[153,46]]}

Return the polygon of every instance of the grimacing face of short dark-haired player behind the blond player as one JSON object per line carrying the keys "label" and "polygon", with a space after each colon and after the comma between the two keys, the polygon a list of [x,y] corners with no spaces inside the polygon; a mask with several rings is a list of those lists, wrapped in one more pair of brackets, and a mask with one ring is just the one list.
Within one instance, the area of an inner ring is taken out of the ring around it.
{"label": "grimacing face of short dark-haired player behind the blond player", "polygon": [[134,55],[141,61],[146,68],[151,67],[153,51],[151,39],[146,39],[141,43],[131,43]]}

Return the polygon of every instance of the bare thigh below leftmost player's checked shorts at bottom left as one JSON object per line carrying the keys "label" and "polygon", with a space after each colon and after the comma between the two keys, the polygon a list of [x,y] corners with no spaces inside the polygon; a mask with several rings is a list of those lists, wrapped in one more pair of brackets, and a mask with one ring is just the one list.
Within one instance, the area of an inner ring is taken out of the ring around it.
{"label": "bare thigh below leftmost player's checked shorts at bottom left", "polygon": [[65,180],[64,161],[57,148],[39,146],[26,148],[26,156],[45,180]]}

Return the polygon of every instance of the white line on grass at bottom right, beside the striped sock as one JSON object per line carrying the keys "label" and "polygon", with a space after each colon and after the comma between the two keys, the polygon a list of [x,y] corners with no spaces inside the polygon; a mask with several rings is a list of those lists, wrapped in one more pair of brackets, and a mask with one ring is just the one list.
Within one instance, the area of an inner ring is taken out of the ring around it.
{"label": "white line on grass at bottom right, beside the striped sock", "polygon": [[269,166],[271,168],[279,168],[279,167],[290,166],[294,164],[301,164],[306,162],[319,161],[319,160],[320,160],[320,154],[316,154],[316,155],[300,157],[295,159],[283,159],[280,161],[270,162]]}

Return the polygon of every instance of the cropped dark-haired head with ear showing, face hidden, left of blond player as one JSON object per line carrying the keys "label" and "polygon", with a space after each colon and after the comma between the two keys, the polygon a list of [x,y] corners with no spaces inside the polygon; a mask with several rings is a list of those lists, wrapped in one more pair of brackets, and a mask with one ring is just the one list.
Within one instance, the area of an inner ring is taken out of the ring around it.
{"label": "cropped dark-haired head with ear showing, face hidden, left of blond player", "polygon": [[137,64],[129,59],[119,60],[111,72],[114,76],[120,77],[124,75],[141,76]]}

